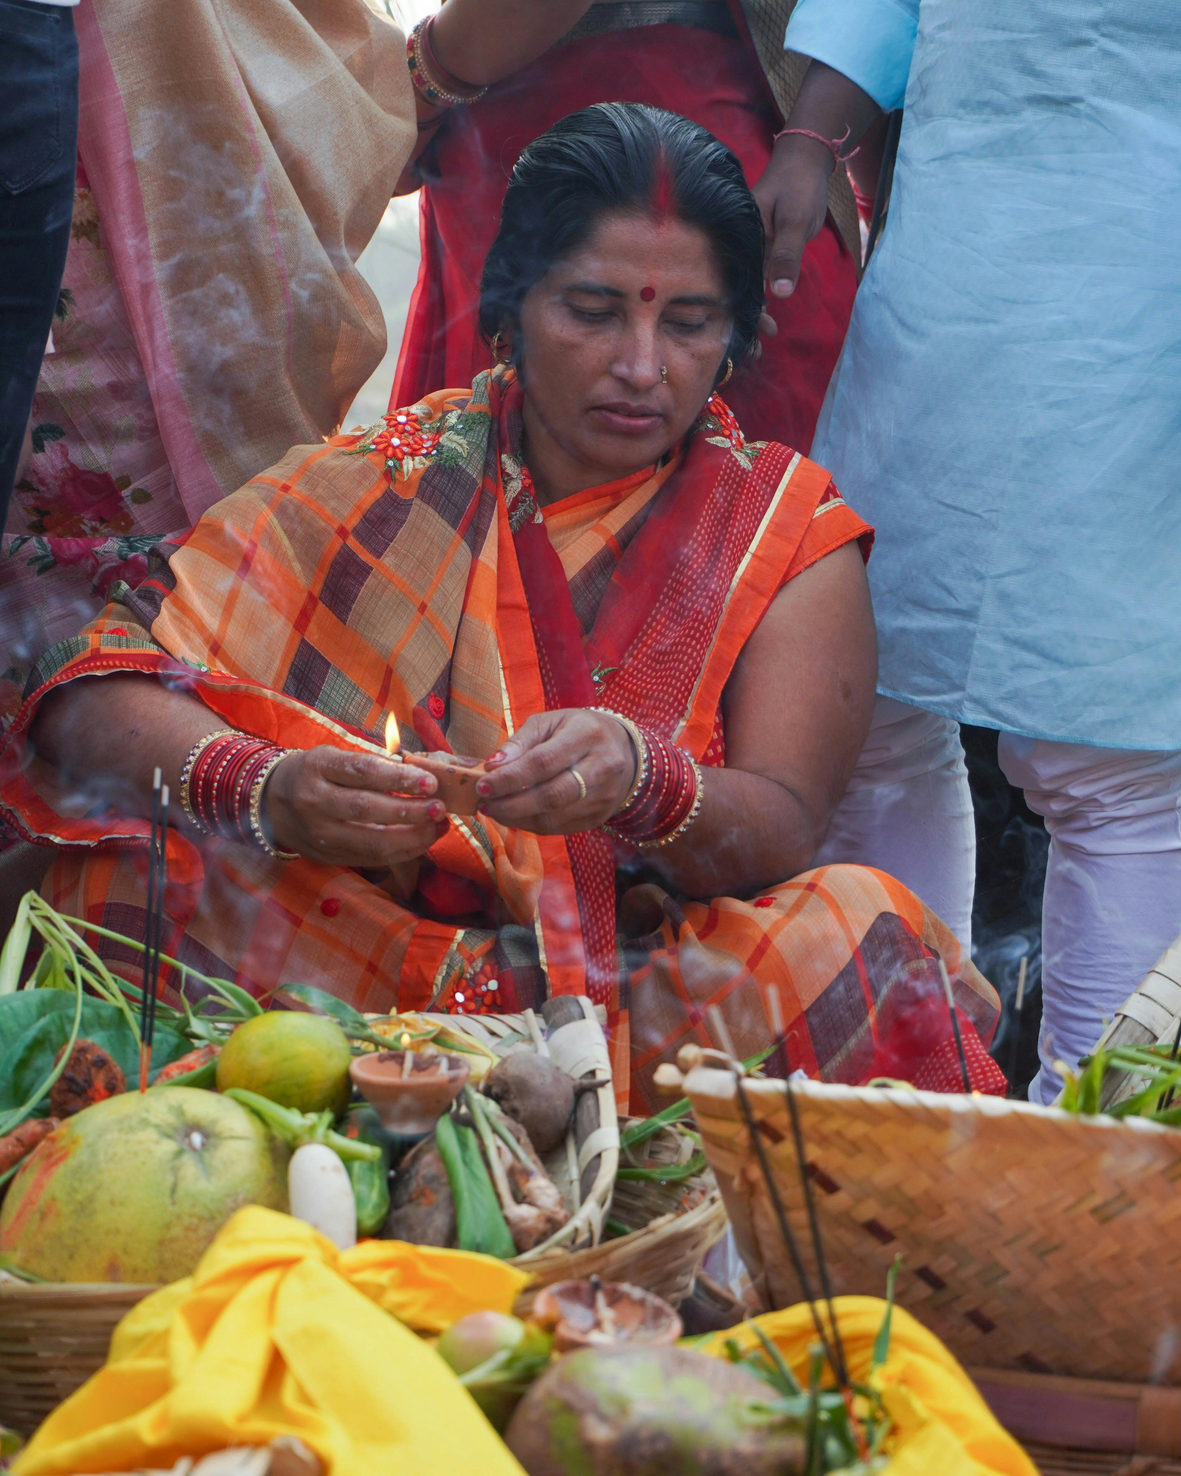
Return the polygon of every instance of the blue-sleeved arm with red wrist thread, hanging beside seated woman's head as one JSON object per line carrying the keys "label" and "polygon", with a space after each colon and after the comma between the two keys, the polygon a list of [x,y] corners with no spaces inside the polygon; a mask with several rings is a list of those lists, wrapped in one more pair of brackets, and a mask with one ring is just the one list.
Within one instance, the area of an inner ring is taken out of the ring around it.
{"label": "blue-sleeved arm with red wrist thread, hanging beside seated woman's head", "polygon": [[[878,117],[902,106],[911,69],[918,0],[800,0],[785,49],[812,58],[787,128],[843,139],[844,154]],[[754,186],[766,227],[766,279],[774,297],[790,297],[803,248],[828,210],[833,152],[788,133],[775,142]]]}

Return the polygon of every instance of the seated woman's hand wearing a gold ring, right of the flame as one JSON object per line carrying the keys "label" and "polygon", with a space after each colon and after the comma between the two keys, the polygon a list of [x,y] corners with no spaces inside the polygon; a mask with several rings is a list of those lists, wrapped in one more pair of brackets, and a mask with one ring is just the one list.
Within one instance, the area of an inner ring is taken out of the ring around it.
{"label": "seated woman's hand wearing a gold ring, right of the flame", "polygon": [[[570,835],[608,821],[630,793],[636,751],[614,717],[568,707],[530,717],[486,762],[480,809],[534,835]],[[583,797],[577,770],[586,785]]]}

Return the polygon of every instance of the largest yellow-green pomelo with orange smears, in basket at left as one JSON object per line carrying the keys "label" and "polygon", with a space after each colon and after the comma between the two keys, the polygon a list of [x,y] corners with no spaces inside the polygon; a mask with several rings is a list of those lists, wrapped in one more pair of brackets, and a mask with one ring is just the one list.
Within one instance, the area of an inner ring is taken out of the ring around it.
{"label": "largest yellow-green pomelo with orange smears, in basket at left", "polygon": [[227,1097],[154,1086],[52,1132],[0,1206],[0,1265],[46,1281],[186,1277],[244,1204],[286,1209],[288,1150]]}

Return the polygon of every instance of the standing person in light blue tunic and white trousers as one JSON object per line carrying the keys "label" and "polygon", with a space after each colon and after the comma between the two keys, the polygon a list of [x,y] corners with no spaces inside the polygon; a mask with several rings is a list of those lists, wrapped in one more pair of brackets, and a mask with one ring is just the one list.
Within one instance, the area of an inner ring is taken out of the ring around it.
{"label": "standing person in light blue tunic and white trousers", "polygon": [[[1169,6],[802,0],[785,43],[813,58],[790,123],[821,140],[905,99],[812,446],[878,528],[884,697],[841,859],[954,924],[971,896],[955,723],[999,731],[1051,835],[1030,1086],[1051,1101],[1056,1060],[1181,930],[1181,32]],[[800,139],[794,164],[787,279],[833,158]]]}

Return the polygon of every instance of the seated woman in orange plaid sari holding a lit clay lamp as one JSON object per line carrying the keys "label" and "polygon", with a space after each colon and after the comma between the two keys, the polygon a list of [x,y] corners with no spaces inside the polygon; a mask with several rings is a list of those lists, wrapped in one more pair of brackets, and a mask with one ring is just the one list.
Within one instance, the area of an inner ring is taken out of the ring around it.
{"label": "seated woman in orange plaid sari holding a lit clay lamp", "polygon": [[[806,871],[870,723],[871,530],[719,399],[762,266],[695,124],[601,105],[537,139],[484,270],[496,366],[292,450],[43,658],[0,799],[66,847],[55,905],[142,934],[159,766],[165,952],[204,973],[369,1011],[588,993],[644,1110],[712,1004],[779,1069],[960,1089],[937,953],[995,1085],[951,933]],[[477,815],[382,753],[391,716],[487,759]]]}

